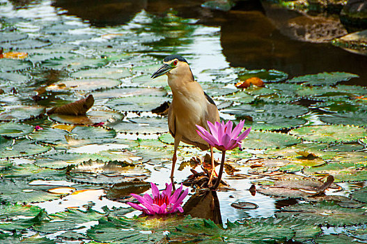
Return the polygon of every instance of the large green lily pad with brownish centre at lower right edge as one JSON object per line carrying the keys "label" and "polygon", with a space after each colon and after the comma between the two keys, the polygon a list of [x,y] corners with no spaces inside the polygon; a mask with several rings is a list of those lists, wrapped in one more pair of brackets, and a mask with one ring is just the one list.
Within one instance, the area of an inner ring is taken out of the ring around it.
{"label": "large green lily pad with brownish centre at lower right edge", "polygon": [[364,208],[343,208],[332,201],[296,204],[283,208],[283,210],[286,212],[276,213],[276,216],[280,218],[294,216],[294,218],[302,219],[305,224],[329,224],[338,227],[367,222]]}

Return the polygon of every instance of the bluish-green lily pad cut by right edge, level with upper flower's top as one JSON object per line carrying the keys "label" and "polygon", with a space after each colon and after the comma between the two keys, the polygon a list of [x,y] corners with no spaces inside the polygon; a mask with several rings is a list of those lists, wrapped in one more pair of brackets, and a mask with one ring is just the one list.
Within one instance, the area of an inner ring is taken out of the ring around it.
{"label": "bluish-green lily pad cut by right edge, level with upper flower's top", "polygon": [[336,125],[356,125],[367,126],[367,109],[361,109],[356,112],[338,112],[337,114],[329,114],[320,116],[320,120],[325,123]]}

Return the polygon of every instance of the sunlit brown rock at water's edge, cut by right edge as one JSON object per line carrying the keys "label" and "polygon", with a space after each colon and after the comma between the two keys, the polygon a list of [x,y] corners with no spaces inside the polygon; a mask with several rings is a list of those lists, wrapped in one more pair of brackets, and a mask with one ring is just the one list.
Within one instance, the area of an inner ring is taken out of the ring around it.
{"label": "sunlit brown rock at water's edge, cut by right edge", "polygon": [[350,33],[332,41],[333,45],[350,52],[367,55],[367,30]]}

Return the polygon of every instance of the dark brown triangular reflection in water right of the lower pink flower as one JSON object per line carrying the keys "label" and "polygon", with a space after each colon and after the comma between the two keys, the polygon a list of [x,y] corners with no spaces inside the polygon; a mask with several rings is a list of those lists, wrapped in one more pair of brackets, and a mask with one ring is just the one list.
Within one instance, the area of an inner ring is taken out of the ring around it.
{"label": "dark brown triangular reflection in water right of the lower pink flower", "polygon": [[216,224],[222,224],[221,210],[217,192],[208,190],[198,192],[187,200],[183,206],[184,213],[192,217],[212,220]]}

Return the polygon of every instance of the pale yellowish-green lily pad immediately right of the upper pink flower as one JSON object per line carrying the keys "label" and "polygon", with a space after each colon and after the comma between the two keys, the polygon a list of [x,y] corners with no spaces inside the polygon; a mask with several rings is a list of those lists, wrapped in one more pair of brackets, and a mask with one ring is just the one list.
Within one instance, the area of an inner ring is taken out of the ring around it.
{"label": "pale yellowish-green lily pad immediately right of the upper pink flower", "polygon": [[249,135],[242,141],[242,148],[250,149],[269,149],[282,148],[298,144],[300,139],[277,132],[260,132],[252,130]]}

